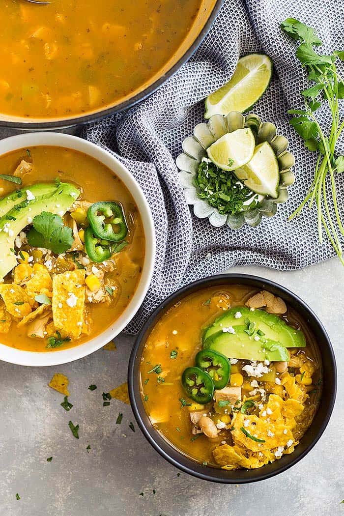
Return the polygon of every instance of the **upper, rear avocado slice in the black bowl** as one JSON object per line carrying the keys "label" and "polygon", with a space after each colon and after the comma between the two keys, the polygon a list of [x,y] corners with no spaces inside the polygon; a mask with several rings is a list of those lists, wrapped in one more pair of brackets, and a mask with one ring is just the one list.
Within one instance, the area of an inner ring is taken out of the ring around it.
{"label": "upper, rear avocado slice in the black bowl", "polygon": [[[238,312],[241,314],[241,317],[237,318],[235,317],[235,314]],[[292,326],[289,326],[284,319],[276,314],[269,314],[265,310],[251,311],[247,307],[234,307],[224,312],[223,315],[218,317],[212,325],[206,328],[203,334],[203,342],[205,342],[211,335],[214,335],[215,333],[222,331],[223,328],[230,326],[234,328],[237,334],[243,333],[242,338],[246,338],[245,342],[249,342],[249,335],[243,331],[244,329],[247,329],[245,320],[254,322],[255,330],[263,332],[264,338],[280,343],[285,348],[304,348],[306,346],[306,339],[301,330],[292,328]],[[242,326],[243,328],[241,328]],[[241,330],[239,330],[239,328],[241,328]],[[233,334],[230,335],[233,336]],[[246,337],[244,337],[245,335]]]}

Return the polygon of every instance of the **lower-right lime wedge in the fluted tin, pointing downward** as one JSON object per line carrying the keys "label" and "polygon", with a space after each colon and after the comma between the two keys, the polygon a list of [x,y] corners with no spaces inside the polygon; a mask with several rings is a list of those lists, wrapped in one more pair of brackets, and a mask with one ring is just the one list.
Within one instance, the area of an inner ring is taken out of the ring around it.
{"label": "lower-right lime wedge in the fluted tin, pointing downward", "polygon": [[260,195],[276,199],[280,183],[279,164],[270,144],[265,141],[254,149],[253,157],[247,165],[234,171],[245,186]]}

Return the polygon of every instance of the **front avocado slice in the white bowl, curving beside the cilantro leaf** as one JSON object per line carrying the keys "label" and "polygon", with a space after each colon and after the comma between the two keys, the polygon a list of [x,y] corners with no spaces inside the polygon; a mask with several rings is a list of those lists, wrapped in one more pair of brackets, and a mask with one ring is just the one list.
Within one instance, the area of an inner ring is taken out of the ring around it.
{"label": "front avocado slice in the white bowl, curving beside the cilantro leaf", "polygon": [[[28,189],[32,192],[32,186]],[[0,219],[0,278],[4,278],[17,265],[17,258],[13,252],[14,240],[32,219],[42,212],[64,215],[79,195],[80,190],[74,185],[60,183],[55,185],[52,194],[46,193],[32,200],[26,199],[16,204]]]}

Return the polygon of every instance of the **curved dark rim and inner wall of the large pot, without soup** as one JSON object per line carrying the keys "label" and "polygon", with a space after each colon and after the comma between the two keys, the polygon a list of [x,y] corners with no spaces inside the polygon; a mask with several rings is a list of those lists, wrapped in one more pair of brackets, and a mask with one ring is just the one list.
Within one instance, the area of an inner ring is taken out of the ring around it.
{"label": "curved dark rim and inner wall of the large pot, without soup", "polygon": [[[161,72],[157,74],[156,80],[150,84],[149,86],[142,89],[142,91],[137,94],[133,94],[133,96],[129,97],[127,100],[119,102],[115,106],[107,107],[100,109],[99,111],[86,114],[83,116],[73,116],[71,118],[62,118],[57,119],[55,121],[52,120],[40,120],[40,121],[25,121],[24,119],[19,119],[16,121],[11,120],[0,120],[0,126],[11,128],[13,130],[25,130],[25,131],[37,131],[37,130],[57,130],[57,129],[68,129],[80,124],[86,124],[90,122],[96,122],[105,117],[113,115],[117,112],[128,109],[129,107],[134,106],[138,102],[146,99],[149,95],[151,95],[154,91],[156,91],[159,86],[161,86],[165,81],[171,77],[186,61],[190,59],[192,54],[198,49],[208,31],[212,23],[214,22],[217,13],[220,10],[222,4],[222,0],[203,0],[203,3],[199,9],[198,15],[196,16],[195,22],[193,24],[191,33],[192,38],[191,42],[186,38],[186,40],[182,43],[181,47],[179,47],[176,52],[176,58],[174,59],[171,68],[166,69],[165,73]],[[191,34],[190,33],[190,34]],[[10,118],[10,117],[9,117]]]}

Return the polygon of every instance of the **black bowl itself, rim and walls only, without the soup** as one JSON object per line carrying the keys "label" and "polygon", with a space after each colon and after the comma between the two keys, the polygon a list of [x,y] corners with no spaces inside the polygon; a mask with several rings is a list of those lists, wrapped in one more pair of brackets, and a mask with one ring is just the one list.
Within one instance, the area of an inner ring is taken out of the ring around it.
{"label": "black bowl itself, rim and walls only, without the soup", "polygon": [[[203,466],[192,459],[186,457],[179,452],[171,444],[169,444],[161,434],[154,429],[148,415],[145,413],[139,385],[139,366],[143,346],[146,342],[151,329],[157,320],[175,304],[179,299],[198,291],[201,288],[211,287],[225,284],[243,284],[255,287],[257,289],[267,289],[273,294],[283,298],[286,303],[295,309],[312,331],[319,351],[323,365],[323,390],[322,398],[317,413],[315,414],[312,425],[308,428],[302,437],[300,444],[290,455],[284,455],[280,460],[276,460],[270,464],[260,467],[257,470],[233,470],[226,471],[215,467]],[[130,402],[134,411],[136,421],[141,428],[144,436],[151,443],[158,453],[174,466],[182,471],[189,473],[195,477],[214,482],[238,484],[247,482],[256,482],[272,477],[289,467],[293,466],[301,460],[310,451],[316,442],[320,439],[321,434],[329,423],[333,410],[336,390],[337,390],[337,370],[332,345],[324,327],[315,313],[302,301],[298,296],[290,292],[287,288],[274,283],[273,281],[259,278],[257,276],[249,276],[245,274],[224,274],[213,276],[199,281],[195,281],[187,285],[177,292],[169,296],[163,301],[159,307],[153,312],[144,327],[139,333],[132,354],[130,355],[128,368],[128,389]]]}

